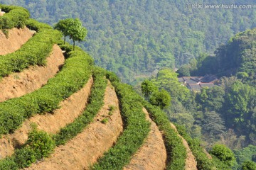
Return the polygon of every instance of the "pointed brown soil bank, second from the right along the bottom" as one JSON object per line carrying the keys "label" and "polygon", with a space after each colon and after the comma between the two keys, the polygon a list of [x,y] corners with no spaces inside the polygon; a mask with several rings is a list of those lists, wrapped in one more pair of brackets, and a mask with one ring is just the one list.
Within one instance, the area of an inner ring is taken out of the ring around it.
{"label": "pointed brown soil bank, second from the right along the bottom", "polygon": [[124,170],[165,169],[167,154],[161,132],[157,128],[156,123],[149,118],[149,113],[145,108],[143,108],[143,111],[146,114],[146,120],[149,120],[151,123],[151,130],[142,147],[134,154],[131,162],[124,167]]}

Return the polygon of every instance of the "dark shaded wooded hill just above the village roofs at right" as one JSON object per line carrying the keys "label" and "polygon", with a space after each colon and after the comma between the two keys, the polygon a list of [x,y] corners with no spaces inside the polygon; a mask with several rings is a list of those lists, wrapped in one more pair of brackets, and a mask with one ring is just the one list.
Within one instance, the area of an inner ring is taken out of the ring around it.
{"label": "dark shaded wooded hill just above the village roofs at right", "polygon": [[246,30],[230,38],[226,45],[220,45],[215,56],[199,57],[193,75],[218,74],[230,76],[236,74],[238,79],[255,86],[255,35],[256,29]]}

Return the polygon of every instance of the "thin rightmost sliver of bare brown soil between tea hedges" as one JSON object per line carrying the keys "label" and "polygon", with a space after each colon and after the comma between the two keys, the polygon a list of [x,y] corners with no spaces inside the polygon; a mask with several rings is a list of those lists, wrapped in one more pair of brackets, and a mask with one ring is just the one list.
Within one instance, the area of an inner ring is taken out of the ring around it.
{"label": "thin rightmost sliver of bare brown soil between tea hedges", "polygon": [[[171,128],[173,128],[178,133],[176,126],[172,123],[170,124],[171,124]],[[186,140],[181,135],[178,134],[178,136],[181,137],[183,145],[186,147],[187,158],[186,158],[185,170],[197,170],[196,158],[193,156],[191,149],[188,146],[188,142],[186,142]]]}

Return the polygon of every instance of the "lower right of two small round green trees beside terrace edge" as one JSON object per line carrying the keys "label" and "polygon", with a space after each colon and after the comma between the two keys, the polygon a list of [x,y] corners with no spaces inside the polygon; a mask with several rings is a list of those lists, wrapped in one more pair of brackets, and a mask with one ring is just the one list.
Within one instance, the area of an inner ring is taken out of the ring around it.
{"label": "lower right of two small round green trees beside terrace edge", "polygon": [[161,109],[163,109],[170,106],[171,96],[166,90],[161,89],[161,91],[157,91],[152,94],[149,101],[152,105],[159,106]]}

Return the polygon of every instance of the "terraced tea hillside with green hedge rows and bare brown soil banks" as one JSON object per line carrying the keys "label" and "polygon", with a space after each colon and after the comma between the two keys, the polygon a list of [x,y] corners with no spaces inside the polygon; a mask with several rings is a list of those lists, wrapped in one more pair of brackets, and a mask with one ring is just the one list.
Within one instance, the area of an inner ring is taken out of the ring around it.
{"label": "terraced tea hillside with green hedge rows and bare brown soil banks", "polygon": [[200,143],[182,131],[187,143],[164,112],[86,52],[63,45],[58,30],[24,8],[0,8],[0,169],[214,167]]}

